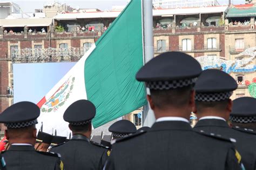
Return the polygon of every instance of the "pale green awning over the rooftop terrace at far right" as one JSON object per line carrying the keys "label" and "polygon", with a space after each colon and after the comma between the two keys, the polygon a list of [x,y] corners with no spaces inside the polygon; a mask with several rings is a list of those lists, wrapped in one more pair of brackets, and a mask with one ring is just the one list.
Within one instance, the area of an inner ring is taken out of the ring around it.
{"label": "pale green awning over the rooftop terrace at far right", "polygon": [[255,17],[256,7],[252,8],[231,8],[228,10],[226,17]]}

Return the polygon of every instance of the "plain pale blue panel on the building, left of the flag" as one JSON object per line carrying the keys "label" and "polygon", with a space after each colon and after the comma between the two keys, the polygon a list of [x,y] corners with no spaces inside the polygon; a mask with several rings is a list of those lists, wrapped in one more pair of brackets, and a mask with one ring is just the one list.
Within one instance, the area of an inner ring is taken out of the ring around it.
{"label": "plain pale blue panel on the building, left of the flag", "polygon": [[14,64],[14,103],[19,101],[38,103],[75,64],[74,62]]}

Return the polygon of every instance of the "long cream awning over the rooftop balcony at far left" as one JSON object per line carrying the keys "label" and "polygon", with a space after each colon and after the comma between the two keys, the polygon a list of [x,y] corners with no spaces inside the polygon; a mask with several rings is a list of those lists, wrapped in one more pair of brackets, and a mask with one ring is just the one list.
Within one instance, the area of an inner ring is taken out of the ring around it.
{"label": "long cream awning over the rooftop balcony at far left", "polygon": [[19,18],[0,19],[0,26],[3,27],[24,27],[24,26],[49,26],[52,18]]}

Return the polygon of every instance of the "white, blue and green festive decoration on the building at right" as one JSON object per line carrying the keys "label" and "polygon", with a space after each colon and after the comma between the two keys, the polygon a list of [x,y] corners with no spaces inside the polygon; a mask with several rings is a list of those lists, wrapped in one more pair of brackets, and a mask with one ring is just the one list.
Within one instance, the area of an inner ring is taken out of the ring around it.
{"label": "white, blue and green festive decoration on the building at right", "polygon": [[[226,60],[219,56],[200,56],[196,59],[201,64],[203,70],[206,69],[221,69],[226,73],[256,73],[255,65],[256,47],[251,47],[235,56],[235,60]],[[256,77],[250,81],[245,81],[248,86],[250,95],[256,98]]]}

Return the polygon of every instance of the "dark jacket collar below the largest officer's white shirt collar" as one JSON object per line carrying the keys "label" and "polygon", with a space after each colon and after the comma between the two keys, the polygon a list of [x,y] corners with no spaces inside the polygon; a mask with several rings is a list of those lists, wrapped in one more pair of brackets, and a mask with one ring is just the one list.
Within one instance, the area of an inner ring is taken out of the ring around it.
{"label": "dark jacket collar below the largest officer's white shirt collar", "polygon": [[185,121],[158,121],[153,124],[148,132],[165,130],[185,130],[192,131],[190,124]]}

